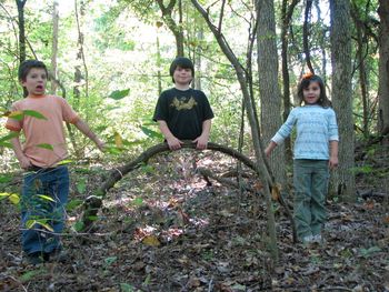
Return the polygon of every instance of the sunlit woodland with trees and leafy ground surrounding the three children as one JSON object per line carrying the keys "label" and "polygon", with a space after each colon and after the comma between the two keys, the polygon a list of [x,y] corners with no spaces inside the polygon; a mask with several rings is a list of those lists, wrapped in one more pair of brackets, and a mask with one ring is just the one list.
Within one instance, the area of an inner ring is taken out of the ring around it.
{"label": "sunlit woodland with trees and leafy ground surrounding the three children", "polygon": [[[1,290],[389,291],[389,1],[3,0],[0,34],[2,123],[23,97],[19,63],[39,59],[49,93],[109,145],[99,153],[67,127],[70,254],[30,266],[19,241],[22,173],[0,129]],[[210,141],[253,169],[211,150],[137,160],[162,141],[151,117],[176,56],[193,60],[193,87],[209,97]],[[305,249],[288,215],[293,139],[269,161],[262,145],[298,105],[308,71],[326,81],[341,141],[327,241]],[[103,195],[92,215],[90,195]]]}

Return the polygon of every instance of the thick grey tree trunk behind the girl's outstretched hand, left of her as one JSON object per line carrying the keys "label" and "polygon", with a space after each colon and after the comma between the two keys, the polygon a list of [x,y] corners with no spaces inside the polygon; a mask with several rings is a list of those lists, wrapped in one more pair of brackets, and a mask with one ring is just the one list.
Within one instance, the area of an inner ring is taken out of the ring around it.
{"label": "thick grey tree trunk behind the girl's outstretched hand, left of her", "polygon": [[[275,21],[275,6],[272,0],[259,0],[258,14],[258,72],[259,91],[261,98],[261,129],[265,143],[282,124],[281,91],[278,87],[278,54]],[[278,147],[270,158],[270,165],[276,181],[287,185],[285,145]]]}

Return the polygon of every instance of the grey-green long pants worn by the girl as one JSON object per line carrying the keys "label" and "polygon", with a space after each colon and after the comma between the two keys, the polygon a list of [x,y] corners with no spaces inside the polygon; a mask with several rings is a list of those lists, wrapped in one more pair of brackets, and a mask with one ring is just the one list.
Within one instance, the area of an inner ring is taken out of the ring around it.
{"label": "grey-green long pants worn by the girl", "polygon": [[328,160],[293,162],[295,223],[297,236],[319,235],[327,218]]}

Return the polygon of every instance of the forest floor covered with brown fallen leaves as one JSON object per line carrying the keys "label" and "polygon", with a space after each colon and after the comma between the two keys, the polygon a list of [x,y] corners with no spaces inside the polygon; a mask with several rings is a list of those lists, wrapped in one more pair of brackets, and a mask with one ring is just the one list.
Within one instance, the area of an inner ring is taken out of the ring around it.
{"label": "forest floor covered with brown fallen leaves", "polygon": [[[160,155],[117,183],[93,233],[74,230],[82,212],[78,200],[107,172],[71,167],[62,262],[26,263],[18,209],[0,201],[0,291],[389,291],[388,157],[378,167],[371,160],[378,172],[357,175],[356,203],[328,200],[323,244],[293,243],[290,222],[275,202],[279,262],[273,264],[263,197],[216,181],[207,185],[180,161],[192,155],[182,151]],[[360,167],[369,163],[363,158]],[[207,151],[198,165],[217,174],[235,168]],[[247,182],[258,184],[247,173]]]}

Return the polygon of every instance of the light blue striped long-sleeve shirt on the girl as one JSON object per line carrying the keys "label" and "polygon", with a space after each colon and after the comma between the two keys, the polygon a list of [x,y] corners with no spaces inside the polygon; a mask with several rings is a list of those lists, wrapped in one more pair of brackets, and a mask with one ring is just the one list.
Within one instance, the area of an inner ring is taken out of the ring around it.
{"label": "light blue striped long-sleeve shirt on the girl", "polygon": [[339,141],[335,111],[317,104],[295,108],[271,140],[282,143],[295,125],[295,159],[328,160],[329,141]]}

